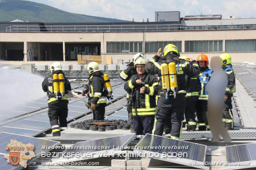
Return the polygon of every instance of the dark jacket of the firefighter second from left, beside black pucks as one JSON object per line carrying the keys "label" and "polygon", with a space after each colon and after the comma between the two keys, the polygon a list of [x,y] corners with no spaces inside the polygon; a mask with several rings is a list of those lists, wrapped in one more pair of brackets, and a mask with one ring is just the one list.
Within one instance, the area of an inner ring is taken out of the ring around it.
{"label": "dark jacket of the firefighter second from left, beside black pucks", "polygon": [[89,96],[90,102],[93,104],[107,103],[106,95],[107,91],[104,85],[103,73],[101,71],[96,71],[92,73],[89,78]]}

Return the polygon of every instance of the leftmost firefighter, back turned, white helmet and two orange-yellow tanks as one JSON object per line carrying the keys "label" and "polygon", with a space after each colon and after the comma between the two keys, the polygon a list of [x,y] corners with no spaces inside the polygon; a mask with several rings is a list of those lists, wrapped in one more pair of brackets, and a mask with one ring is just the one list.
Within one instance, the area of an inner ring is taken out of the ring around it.
{"label": "leftmost firefighter, back turned, white helmet and two orange-yellow tanks", "polygon": [[48,96],[48,117],[52,127],[52,136],[60,136],[60,130],[67,128],[68,98],[67,90],[71,85],[64,76],[61,64],[55,62],[50,66],[52,75],[44,78],[42,89]]}

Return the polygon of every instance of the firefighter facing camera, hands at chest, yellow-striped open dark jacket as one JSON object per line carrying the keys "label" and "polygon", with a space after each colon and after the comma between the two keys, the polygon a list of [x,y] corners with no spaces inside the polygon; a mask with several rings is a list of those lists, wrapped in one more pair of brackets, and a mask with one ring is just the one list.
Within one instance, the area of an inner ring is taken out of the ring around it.
{"label": "firefighter facing camera, hands at chest, yellow-striped open dark jacket", "polygon": [[136,75],[124,84],[124,89],[132,94],[132,117],[136,135],[151,134],[156,113],[158,79],[145,70],[146,60],[142,57],[134,62]]}

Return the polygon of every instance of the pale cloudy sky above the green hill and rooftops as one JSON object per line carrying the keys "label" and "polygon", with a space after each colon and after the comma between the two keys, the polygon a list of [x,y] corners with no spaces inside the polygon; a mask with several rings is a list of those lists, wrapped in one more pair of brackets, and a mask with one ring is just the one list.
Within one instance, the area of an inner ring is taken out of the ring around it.
{"label": "pale cloudy sky above the green hill and rooftops", "polygon": [[154,21],[156,11],[180,11],[185,15],[222,14],[256,18],[256,0],[30,0],[76,14],[141,22]]}

